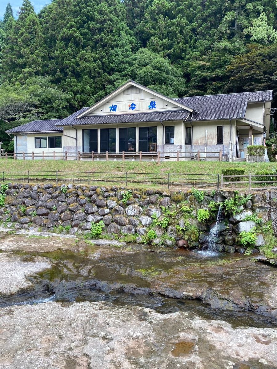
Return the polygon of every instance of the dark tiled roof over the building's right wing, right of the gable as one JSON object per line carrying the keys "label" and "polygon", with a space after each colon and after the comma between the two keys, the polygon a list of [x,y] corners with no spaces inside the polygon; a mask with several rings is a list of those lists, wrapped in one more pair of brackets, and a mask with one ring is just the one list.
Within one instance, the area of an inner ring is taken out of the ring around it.
{"label": "dark tiled roof over the building's right wing, right of the gable", "polygon": [[174,100],[198,112],[192,120],[244,118],[248,102],[271,101],[272,91],[181,97]]}

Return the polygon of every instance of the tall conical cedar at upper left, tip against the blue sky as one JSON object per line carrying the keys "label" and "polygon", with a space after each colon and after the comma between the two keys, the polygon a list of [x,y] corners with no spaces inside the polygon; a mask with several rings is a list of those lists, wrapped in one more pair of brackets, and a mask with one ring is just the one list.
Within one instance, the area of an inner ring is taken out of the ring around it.
{"label": "tall conical cedar at upper left, tip against the blue sky", "polygon": [[7,46],[3,52],[3,79],[24,83],[29,77],[40,75],[44,59],[41,25],[29,0],[23,0],[13,27],[7,32]]}

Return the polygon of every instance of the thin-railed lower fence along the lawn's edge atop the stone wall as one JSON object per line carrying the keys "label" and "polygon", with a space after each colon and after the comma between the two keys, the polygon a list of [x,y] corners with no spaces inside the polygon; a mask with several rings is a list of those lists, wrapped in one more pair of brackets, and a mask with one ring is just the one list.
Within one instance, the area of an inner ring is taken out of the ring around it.
{"label": "thin-railed lower fence along the lawn's edge atop the stone wall", "polygon": [[[80,183],[80,184],[114,184],[124,186],[166,186],[179,188],[215,188],[228,189],[239,188],[276,189],[277,175],[249,175],[223,176],[219,174],[191,174],[191,173],[128,173],[128,172],[0,172],[1,182],[23,182],[23,183]],[[237,178],[240,177],[240,181]],[[268,181],[260,181],[259,177],[269,177]],[[257,186],[259,184],[259,186]]]}

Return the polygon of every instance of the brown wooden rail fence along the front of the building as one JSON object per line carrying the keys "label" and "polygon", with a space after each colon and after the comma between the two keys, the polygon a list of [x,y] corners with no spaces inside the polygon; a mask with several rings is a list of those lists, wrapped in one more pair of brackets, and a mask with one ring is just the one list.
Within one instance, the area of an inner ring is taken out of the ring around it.
{"label": "brown wooden rail fence along the front of the building", "polygon": [[156,161],[160,163],[163,160],[182,161],[182,160],[219,160],[226,161],[227,155],[223,155],[222,151],[209,152],[13,152],[5,153],[2,159],[52,159],[52,160],[90,160],[90,161]]}

